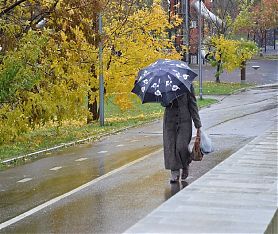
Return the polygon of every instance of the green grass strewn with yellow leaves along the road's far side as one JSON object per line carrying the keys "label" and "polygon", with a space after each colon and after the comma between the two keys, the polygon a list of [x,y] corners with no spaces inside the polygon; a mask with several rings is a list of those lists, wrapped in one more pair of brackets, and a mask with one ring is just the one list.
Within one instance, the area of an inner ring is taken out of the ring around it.
{"label": "green grass strewn with yellow leaves along the road's far side", "polygon": [[[204,82],[203,91],[204,94],[230,94],[247,86],[248,85],[242,86],[240,84],[215,84],[214,82]],[[197,94],[198,88],[198,84],[196,83],[195,89]],[[198,100],[198,105],[199,107],[204,107],[215,102],[216,100],[207,98],[204,100]],[[82,125],[76,122],[61,127],[59,131],[57,131],[55,127],[37,129],[22,136],[17,142],[1,145],[0,161],[79,139],[85,139],[88,137],[98,139],[104,134],[110,134],[124,128],[161,118],[164,108],[161,107],[160,104],[147,103],[142,105],[139,99],[136,98],[134,107],[128,111],[121,111],[111,101],[107,101],[105,110],[104,127],[100,127],[98,122],[89,125]]]}

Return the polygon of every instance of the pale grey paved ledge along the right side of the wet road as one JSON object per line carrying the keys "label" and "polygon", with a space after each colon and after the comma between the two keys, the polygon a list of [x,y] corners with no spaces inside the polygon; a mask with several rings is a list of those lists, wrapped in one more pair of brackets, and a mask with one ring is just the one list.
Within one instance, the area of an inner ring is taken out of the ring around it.
{"label": "pale grey paved ledge along the right side of the wet road", "polygon": [[276,122],[125,233],[278,233],[277,153]]}

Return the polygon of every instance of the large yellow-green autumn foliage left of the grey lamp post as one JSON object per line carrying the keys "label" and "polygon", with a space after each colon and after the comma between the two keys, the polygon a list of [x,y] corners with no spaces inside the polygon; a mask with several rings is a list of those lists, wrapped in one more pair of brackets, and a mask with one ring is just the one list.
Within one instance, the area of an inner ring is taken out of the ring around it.
{"label": "large yellow-green autumn foliage left of the grey lamp post", "polygon": [[[3,24],[1,38],[9,40],[2,40],[1,137],[12,140],[27,127],[35,128],[49,121],[61,125],[66,119],[83,118],[86,113],[90,69],[97,56],[88,39],[88,35],[93,38],[94,34],[86,31],[89,19],[80,11],[85,3],[74,3],[22,1],[17,5],[9,3],[13,8],[2,11],[2,21],[8,26]],[[95,7],[95,1],[86,4]],[[34,9],[43,16],[36,24],[29,20]],[[87,9],[92,10],[88,5]],[[56,17],[62,10],[62,17]],[[78,21],[81,18],[77,16],[84,18]],[[88,17],[91,22],[91,16]],[[48,21],[47,28],[40,27],[41,20]],[[22,24],[17,25],[17,21]],[[12,116],[18,116],[18,126],[9,122]],[[9,131],[11,134],[2,134]]]}

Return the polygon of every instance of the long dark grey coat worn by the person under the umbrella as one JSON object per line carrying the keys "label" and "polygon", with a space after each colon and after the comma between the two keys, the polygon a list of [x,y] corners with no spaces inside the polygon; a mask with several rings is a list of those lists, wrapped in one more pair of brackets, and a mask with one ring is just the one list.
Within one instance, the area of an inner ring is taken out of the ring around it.
{"label": "long dark grey coat worn by the person under the umbrella", "polygon": [[202,126],[193,87],[191,93],[178,97],[165,108],[163,146],[166,169],[178,170],[189,165],[192,120],[196,128]]}

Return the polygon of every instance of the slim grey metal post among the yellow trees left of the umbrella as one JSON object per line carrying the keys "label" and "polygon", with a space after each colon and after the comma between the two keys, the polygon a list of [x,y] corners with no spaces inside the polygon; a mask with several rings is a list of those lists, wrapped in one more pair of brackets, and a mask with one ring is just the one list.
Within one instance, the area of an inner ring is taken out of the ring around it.
{"label": "slim grey metal post among the yellow trees left of the umbrella", "polygon": [[99,14],[98,18],[99,27],[99,120],[100,126],[104,126],[104,79],[103,79],[103,42],[102,42],[102,15]]}

